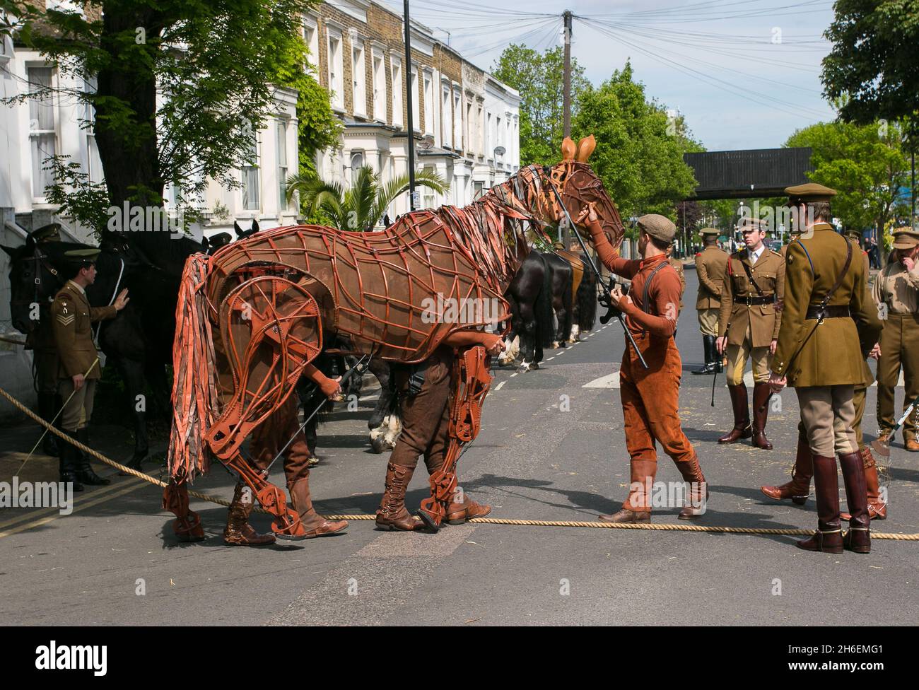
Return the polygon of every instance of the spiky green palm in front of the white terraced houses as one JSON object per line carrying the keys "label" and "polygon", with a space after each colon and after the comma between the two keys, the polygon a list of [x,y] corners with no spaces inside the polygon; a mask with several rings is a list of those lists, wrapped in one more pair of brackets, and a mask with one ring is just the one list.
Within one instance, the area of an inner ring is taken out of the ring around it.
{"label": "spiky green palm in front of the white terraced houses", "polygon": [[[441,194],[449,190],[447,180],[424,168],[414,174],[416,187],[429,187]],[[383,185],[369,165],[354,175],[350,188],[327,182],[315,173],[291,175],[287,181],[288,201],[300,192],[301,209],[310,218],[322,218],[338,230],[369,231],[380,222],[395,198],[408,191],[408,175],[399,175]]]}

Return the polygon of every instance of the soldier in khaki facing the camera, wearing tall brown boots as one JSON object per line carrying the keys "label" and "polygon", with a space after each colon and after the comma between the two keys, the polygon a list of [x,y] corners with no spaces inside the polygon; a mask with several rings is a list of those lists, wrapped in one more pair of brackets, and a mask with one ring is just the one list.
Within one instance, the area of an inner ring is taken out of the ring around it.
{"label": "soldier in khaki facing the camera, wearing tall brown boots", "polygon": [[[785,262],[773,252],[763,238],[766,224],[755,218],[740,223],[746,248],[731,255],[727,275],[722,281],[719,313],[719,353],[728,357],[728,390],[734,413],[733,429],[718,439],[719,443],[735,443],[753,436],[754,447],[771,450],[766,438],[766,417],[769,400],[769,362],[776,351],[778,329],[782,316],[776,303],[784,299]],[[753,426],[747,404],[743,369],[752,360]]]}

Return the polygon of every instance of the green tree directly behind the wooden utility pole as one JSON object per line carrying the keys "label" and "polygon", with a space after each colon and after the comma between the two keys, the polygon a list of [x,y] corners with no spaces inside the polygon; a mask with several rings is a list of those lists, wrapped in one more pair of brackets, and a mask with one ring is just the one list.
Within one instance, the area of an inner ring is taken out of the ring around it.
{"label": "green tree directly behind the wooden utility pole", "polygon": [[[492,74],[520,93],[520,164],[558,163],[564,136],[562,48],[539,53],[512,43],[495,61]],[[589,86],[584,68],[572,58],[572,120]]]}

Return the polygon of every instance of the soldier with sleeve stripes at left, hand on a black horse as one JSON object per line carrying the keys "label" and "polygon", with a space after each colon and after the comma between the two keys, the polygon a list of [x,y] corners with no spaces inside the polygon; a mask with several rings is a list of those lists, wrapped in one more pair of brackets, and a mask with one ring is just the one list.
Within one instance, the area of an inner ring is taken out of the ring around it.
{"label": "soldier with sleeve stripes at left, hand on a black horse", "polygon": [[[110,307],[89,305],[86,287],[96,280],[98,255],[99,250],[92,247],[64,254],[62,277],[68,279],[51,304],[54,343],[60,360],[58,391],[64,401],[61,427],[62,431],[84,445],[88,445],[89,441],[87,424],[93,415],[96,380],[101,375],[90,324],[115,318],[128,304],[128,290],[123,289]],[[83,484],[109,483],[107,479],[98,477],[89,459],[69,444],[62,444],[60,468],[61,481],[72,481],[77,492],[83,491]]]}

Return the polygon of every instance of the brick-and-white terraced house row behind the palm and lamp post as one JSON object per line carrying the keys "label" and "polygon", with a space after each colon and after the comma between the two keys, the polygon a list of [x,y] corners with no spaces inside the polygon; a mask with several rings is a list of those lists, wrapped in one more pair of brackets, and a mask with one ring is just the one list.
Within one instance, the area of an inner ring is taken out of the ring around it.
{"label": "brick-and-white terraced house row behind the palm and lamp post", "polygon": [[[405,64],[403,17],[369,0],[335,0],[304,18],[312,68],[345,128],[341,148],[317,156],[326,179],[348,183],[361,165],[383,181],[408,169],[409,74],[417,167],[448,180],[446,195],[421,188],[418,208],[463,206],[520,164],[519,102],[502,84],[413,22]],[[408,210],[408,195],[390,209]]]}

